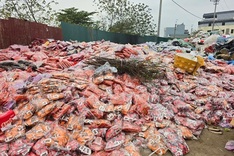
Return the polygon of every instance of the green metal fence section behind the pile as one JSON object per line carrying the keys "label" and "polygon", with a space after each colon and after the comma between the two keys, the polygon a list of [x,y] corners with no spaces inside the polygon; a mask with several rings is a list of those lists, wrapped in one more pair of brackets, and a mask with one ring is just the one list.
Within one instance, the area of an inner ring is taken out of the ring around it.
{"label": "green metal fence section behind the pile", "polygon": [[138,35],[128,35],[120,33],[112,33],[101,30],[95,30],[87,27],[82,27],[75,24],[61,23],[63,39],[65,41],[77,40],[77,41],[97,41],[106,40],[115,43],[130,43],[139,44],[148,41],[157,42],[168,41],[171,38],[163,38],[157,36],[138,36]]}

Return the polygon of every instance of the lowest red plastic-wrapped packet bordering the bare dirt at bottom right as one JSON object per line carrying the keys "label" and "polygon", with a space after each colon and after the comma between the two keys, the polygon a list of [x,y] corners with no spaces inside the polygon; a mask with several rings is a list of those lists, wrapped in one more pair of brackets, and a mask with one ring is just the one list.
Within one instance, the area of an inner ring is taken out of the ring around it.
{"label": "lowest red plastic-wrapped packet bordering the bare dirt at bottom right", "polygon": [[174,128],[160,129],[159,132],[164,136],[168,149],[174,156],[183,156],[189,152],[189,147]]}

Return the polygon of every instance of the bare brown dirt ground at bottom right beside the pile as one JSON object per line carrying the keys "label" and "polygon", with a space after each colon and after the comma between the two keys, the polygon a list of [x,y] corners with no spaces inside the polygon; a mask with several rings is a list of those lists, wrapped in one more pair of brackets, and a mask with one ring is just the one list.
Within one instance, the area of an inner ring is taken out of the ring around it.
{"label": "bare brown dirt ground at bottom right beside the pile", "polygon": [[[205,129],[200,139],[186,141],[190,149],[186,156],[234,156],[234,152],[224,148],[228,140],[234,140],[234,130],[218,135]],[[148,156],[150,153],[149,150],[141,150],[142,156]],[[172,156],[172,154],[167,152],[165,156]]]}

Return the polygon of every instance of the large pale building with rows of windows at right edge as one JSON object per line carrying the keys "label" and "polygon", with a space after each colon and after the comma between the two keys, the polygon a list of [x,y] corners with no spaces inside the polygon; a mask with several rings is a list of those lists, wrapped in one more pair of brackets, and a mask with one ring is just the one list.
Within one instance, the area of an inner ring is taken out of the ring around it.
{"label": "large pale building with rows of windows at right edge", "polygon": [[[202,31],[211,32],[214,22],[214,13],[203,14],[203,20],[198,22],[198,28]],[[234,10],[217,12],[215,14],[214,31],[234,35]]]}

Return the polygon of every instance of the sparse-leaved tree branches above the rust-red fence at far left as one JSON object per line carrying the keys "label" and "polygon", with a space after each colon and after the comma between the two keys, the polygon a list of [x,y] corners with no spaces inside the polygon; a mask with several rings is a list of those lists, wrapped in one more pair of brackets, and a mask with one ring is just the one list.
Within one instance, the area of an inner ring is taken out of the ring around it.
{"label": "sparse-leaved tree branches above the rust-red fence at far left", "polygon": [[44,24],[55,24],[54,0],[0,0],[0,17],[15,17]]}

